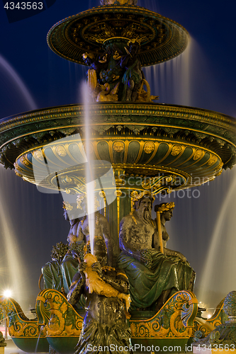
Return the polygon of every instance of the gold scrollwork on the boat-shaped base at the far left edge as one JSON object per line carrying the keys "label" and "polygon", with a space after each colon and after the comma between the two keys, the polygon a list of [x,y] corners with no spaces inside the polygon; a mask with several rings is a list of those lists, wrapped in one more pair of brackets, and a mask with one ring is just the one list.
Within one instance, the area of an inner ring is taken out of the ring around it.
{"label": "gold scrollwork on the boat-shaped base at the far left edge", "polygon": [[40,332],[40,337],[45,337],[45,330],[40,331],[37,321],[28,319],[15,300],[1,297],[0,306],[6,312],[6,322],[11,337],[38,338]]}

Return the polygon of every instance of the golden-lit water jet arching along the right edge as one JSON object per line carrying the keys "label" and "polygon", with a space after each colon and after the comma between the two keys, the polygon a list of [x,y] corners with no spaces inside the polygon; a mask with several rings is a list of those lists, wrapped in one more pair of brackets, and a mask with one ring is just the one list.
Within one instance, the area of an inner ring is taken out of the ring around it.
{"label": "golden-lit water jet arching along the right edge", "polygon": [[[232,172],[234,181],[227,185],[227,193],[215,218],[215,228],[210,241],[208,255],[203,263],[199,299],[210,303],[212,292],[219,292],[220,302],[228,292],[235,290],[236,239],[236,169]],[[217,305],[217,304],[215,304]]]}

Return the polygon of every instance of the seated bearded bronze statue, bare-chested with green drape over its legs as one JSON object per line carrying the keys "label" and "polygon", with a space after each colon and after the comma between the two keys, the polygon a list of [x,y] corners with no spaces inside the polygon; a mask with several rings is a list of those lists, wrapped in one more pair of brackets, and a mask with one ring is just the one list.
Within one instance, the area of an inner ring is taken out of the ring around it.
{"label": "seated bearded bronze statue, bare-chested with green drape over its legs", "polygon": [[[195,273],[181,253],[159,248],[157,223],[152,220],[152,194],[135,197],[134,210],[120,222],[118,267],[130,282],[132,309],[153,309],[179,290],[192,290]],[[168,203],[167,203],[168,204]],[[168,206],[168,205],[167,205]],[[162,216],[162,237],[168,239],[164,223],[172,216],[172,207]]]}

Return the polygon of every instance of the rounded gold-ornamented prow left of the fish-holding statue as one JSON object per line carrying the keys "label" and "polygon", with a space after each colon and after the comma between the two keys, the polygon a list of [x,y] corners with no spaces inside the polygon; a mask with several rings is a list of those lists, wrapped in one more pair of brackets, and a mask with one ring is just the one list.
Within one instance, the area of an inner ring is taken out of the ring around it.
{"label": "rounded gold-ornamented prow left of the fish-holding statue", "polygon": [[[52,289],[43,290],[36,302],[38,308],[42,308],[41,297],[50,304],[50,319],[45,320],[47,336],[79,336],[83,318],[77,314],[62,293]],[[43,313],[41,314],[43,316]]]}

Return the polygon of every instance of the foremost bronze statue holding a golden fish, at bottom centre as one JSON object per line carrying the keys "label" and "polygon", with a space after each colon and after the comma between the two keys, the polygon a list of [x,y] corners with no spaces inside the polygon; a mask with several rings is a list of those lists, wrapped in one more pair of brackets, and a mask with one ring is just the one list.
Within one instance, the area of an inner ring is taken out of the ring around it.
{"label": "foremost bronze statue holding a golden fish, at bottom centre", "polygon": [[79,273],[74,275],[67,295],[72,305],[82,294],[86,297],[86,314],[75,354],[132,353],[131,332],[125,318],[128,278],[122,270],[106,265],[106,244],[101,236],[95,237],[94,256],[84,256],[85,262],[79,264]]}

